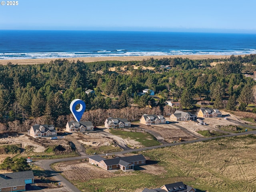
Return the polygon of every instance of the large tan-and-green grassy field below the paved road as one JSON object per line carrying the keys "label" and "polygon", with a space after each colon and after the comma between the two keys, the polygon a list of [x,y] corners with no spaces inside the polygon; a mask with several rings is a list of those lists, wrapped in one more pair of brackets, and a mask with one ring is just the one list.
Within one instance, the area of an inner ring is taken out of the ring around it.
{"label": "large tan-and-green grassy field below the paved road", "polygon": [[182,144],[142,153],[165,172],[118,172],[113,178],[72,182],[83,192],[141,192],[178,181],[197,192],[255,192],[255,151],[254,135]]}

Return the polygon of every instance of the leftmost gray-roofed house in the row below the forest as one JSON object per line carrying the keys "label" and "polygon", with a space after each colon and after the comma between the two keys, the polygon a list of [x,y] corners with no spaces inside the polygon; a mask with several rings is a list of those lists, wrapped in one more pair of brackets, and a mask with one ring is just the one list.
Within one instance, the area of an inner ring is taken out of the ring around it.
{"label": "leftmost gray-roofed house in the row below the forest", "polygon": [[57,131],[53,125],[38,125],[31,126],[28,130],[28,135],[32,137],[52,137],[57,135]]}

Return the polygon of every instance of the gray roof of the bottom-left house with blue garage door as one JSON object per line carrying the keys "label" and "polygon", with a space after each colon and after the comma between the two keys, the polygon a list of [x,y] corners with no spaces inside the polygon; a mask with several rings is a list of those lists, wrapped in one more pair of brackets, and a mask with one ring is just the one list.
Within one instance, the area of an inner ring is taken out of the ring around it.
{"label": "gray roof of the bottom-left house with blue garage door", "polygon": [[0,188],[26,185],[24,179],[32,179],[32,170],[0,174]]}

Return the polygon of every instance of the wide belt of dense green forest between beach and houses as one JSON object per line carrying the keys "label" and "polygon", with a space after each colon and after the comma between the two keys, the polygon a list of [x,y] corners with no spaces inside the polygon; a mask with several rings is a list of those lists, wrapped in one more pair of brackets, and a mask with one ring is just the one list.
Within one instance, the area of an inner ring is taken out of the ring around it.
{"label": "wide belt of dense green forest between beach and houses", "polygon": [[[160,67],[166,65],[170,68]],[[151,68],[145,70],[142,66]],[[113,67],[115,71],[110,70]],[[85,112],[84,118],[94,124],[102,123],[96,120],[100,114],[107,113],[106,117],[124,109],[139,110],[137,116],[128,116],[138,120],[148,110],[145,106],[166,114],[167,99],[180,100],[180,108],[185,110],[196,110],[193,98],[204,97],[213,101],[215,108],[244,111],[254,102],[255,70],[255,54],[206,60],[150,58],[85,63],[58,59],[36,65],[8,62],[0,65],[0,131],[16,130],[18,125],[27,130],[34,119],[63,126],[70,118],[69,105],[76,98],[86,103],[88,114]],[[160,100],[148,94],[138,96],[146,88],[158,93]],[[87,89],[95,94],[86,94]],[[222,100],[228,100],[225,106]]]}

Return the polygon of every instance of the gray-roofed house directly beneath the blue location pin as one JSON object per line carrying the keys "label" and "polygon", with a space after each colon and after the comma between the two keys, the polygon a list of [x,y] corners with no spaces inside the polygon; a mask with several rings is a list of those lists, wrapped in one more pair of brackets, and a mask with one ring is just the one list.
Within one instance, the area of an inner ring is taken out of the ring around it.
{"label": "gray-roofed house directly beneath the blue location pin", "polygon": [[66,130],[68,132],[84,132],[84,131],[93,131],[94,126],[90,121],[70,121],[66,124]]}

